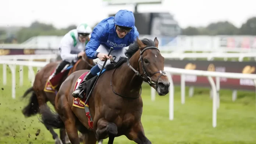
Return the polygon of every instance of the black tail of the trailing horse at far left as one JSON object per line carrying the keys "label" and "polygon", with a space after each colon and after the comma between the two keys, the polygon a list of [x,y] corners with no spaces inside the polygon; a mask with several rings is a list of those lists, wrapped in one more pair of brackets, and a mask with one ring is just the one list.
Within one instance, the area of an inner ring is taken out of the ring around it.
{"label": "black tail of the trailing horse at far left", "polygon": [[33,91],[33,87],[30,87],[28,90],[26,90],[22,98],[25,98],[30,92],[32,92],[32,95],[29,98],[29,103],[25,108],[22,109],[22,114],[26,117],[36,115],[39,112],[39,104],[36,93]]}

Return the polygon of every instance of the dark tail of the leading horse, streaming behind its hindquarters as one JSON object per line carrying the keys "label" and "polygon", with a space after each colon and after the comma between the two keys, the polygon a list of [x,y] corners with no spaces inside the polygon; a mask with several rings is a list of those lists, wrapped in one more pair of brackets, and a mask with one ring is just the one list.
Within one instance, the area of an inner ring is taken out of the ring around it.
{"label": "dark tail of the leading horse, streaming behind its hindquarters", "polygon": [[51,127],[53,129],[60,129],[65,127],[64,122],[60,118],[60,115],[54,114],[47,106],[47,104],[42,106],[40,113],[42,115],[39,121],[42,122],[45,126]]}

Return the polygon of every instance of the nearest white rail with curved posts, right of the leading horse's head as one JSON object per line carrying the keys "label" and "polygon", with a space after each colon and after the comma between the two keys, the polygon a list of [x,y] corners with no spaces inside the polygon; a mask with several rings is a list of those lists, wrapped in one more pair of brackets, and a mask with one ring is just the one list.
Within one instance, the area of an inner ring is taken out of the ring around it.
{"label": "nearest white rail with curved posts, right of the leading horse's head", "polygon": [[[213,91],[213,127],[217,126],[217,108],[219,106],[218,90],[220,89],[220,77],[230,79],[251,79],[256,86],[256,74],[243,74],[243,73],[229,73],[229,72],[211,72],[211,71],[199,71],[199,70],[187,70],[180,68],[164,67],[164,71],[167,72],[167,76],[170,80],[170,95],[169,95],[169,119],[174,119],[174,84],[171,74],[181,75],[181,79],[185,75],[197,75],[207,76],[211,89]],[[213,77],[216,77],[216,84],[214,83]],[[156,91],[151,88],[151,99],[154,101]],[[181,103],[185,103],[185,80],[181,80]]]}

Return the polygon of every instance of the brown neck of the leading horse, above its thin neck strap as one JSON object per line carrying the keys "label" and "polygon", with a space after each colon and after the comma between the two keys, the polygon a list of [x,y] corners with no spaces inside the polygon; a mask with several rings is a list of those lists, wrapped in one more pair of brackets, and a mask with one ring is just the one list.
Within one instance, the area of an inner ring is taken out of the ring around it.
{"label": "brown neck of the leading horse, above its thin neck strap", "polygon": [[[139,54],[136,53],[132,58],[130,58],[130,65],[139,71]],[[123,94],[124,96],[139,96],[142,78],[136,75],[136,73],[129,68],[127,63],[124,63],[120,66],[119,69],[116,69],[113,75],[113,85],[118,87],[116,90],[117,93]]]}

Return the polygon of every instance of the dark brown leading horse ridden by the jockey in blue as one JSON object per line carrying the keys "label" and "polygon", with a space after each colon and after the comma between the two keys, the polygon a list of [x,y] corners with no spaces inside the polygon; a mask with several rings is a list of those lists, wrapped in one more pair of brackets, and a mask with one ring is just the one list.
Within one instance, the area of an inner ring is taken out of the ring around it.
{"label": "dark brown leading horse ridden by the jockey in blue", "polygon": [[[85,110],[72,106],[71,95],[77,79],[88,70],[74,72],[63,82],[55,99],[58,114],[54,115],[45,105],[41,122],[53,128],[65,127],[72,144],[79,144],[77,130],[87,134],[86,144],[96,144],[97,140],[107,137],[108,144],[113,144],[114,137],[121,135],[138,144],[151,144],[141,123],[141,86],[145,81],[161,96],[169,92],[170,86],[163,71],[164,57],[158,43],[157,38],[154,42],[137,38],[125,53],[128,58],[120,58],[117,63],[106,66],[89,98],[93,129],[89,127]],[[89,81],[87,89],[91,86]],[[88,95],[88,90],[85,91]]]}

